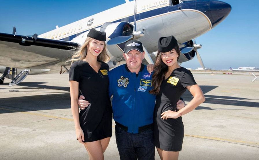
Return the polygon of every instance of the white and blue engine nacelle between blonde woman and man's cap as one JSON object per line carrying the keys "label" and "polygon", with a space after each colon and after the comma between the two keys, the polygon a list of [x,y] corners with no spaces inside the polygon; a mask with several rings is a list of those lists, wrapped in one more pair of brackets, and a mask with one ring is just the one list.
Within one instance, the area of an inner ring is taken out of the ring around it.
{"label": "white and blue engine nacelle between blonde woman and man's cap", "polygon": [[[111,23],[107,25],[105,28],[107,41],[114,37],[118,37],[122,35],[132,35],[133,28],[134,28],[133,25],[130,24],[129,22]],[[117,44],[117,45],[107,45],[107,48],[114,57],[119,58],[119,57],[122,57],[125,44],[126,42]]]}

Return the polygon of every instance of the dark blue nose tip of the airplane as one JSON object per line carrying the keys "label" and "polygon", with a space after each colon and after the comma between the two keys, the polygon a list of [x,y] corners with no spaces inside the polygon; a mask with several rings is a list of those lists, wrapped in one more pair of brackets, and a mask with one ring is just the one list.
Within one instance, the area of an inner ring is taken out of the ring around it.
{"label": "dark blue nose tip of the airplane", "polygon": [[231,5],[222,1],[210,1],[210,21],[212,28],[224,20],[231,11]]}

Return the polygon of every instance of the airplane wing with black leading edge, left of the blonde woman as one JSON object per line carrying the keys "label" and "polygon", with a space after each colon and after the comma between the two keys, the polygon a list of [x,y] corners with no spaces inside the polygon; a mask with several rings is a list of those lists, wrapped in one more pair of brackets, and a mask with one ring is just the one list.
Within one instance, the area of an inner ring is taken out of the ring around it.
{"label": "airplane wing with black leading edge, left of the blonde woman", "polygon": [[37,34],[23,36],[0,33],[0,65],[15,68],[38,68],[66,61],[79,44],[39,38]]}

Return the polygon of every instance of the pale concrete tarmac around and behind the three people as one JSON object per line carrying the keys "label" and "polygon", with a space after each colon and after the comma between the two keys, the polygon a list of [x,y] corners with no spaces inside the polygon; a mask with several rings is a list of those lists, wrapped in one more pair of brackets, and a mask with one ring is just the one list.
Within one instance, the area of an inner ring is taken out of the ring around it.
{"label": "pale concrete tarmac around and behind the three people", "polygon": [[[179,159],[259,159],[259,79],[193,75],[206,101],[183,116]],[[29,75],[14,88],[9,82],[0,85],[0,159],[88,159],[75,136],[68,74]],[[192,99],[188,91],[183,98]],[[119,159],[114,126],[108,160]]]}

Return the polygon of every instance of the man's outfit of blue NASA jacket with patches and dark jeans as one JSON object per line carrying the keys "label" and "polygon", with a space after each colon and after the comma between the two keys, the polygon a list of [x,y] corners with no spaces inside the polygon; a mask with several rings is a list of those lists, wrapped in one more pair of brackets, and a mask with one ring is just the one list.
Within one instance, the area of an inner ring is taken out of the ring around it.
{"label": "man's outfit of blue NASA jacket with patches and dark jeans", "polygon": [[108,77],[120,158],[154,159],[152,74],[142,64],[136,75],[125,64],[112,69]]}

